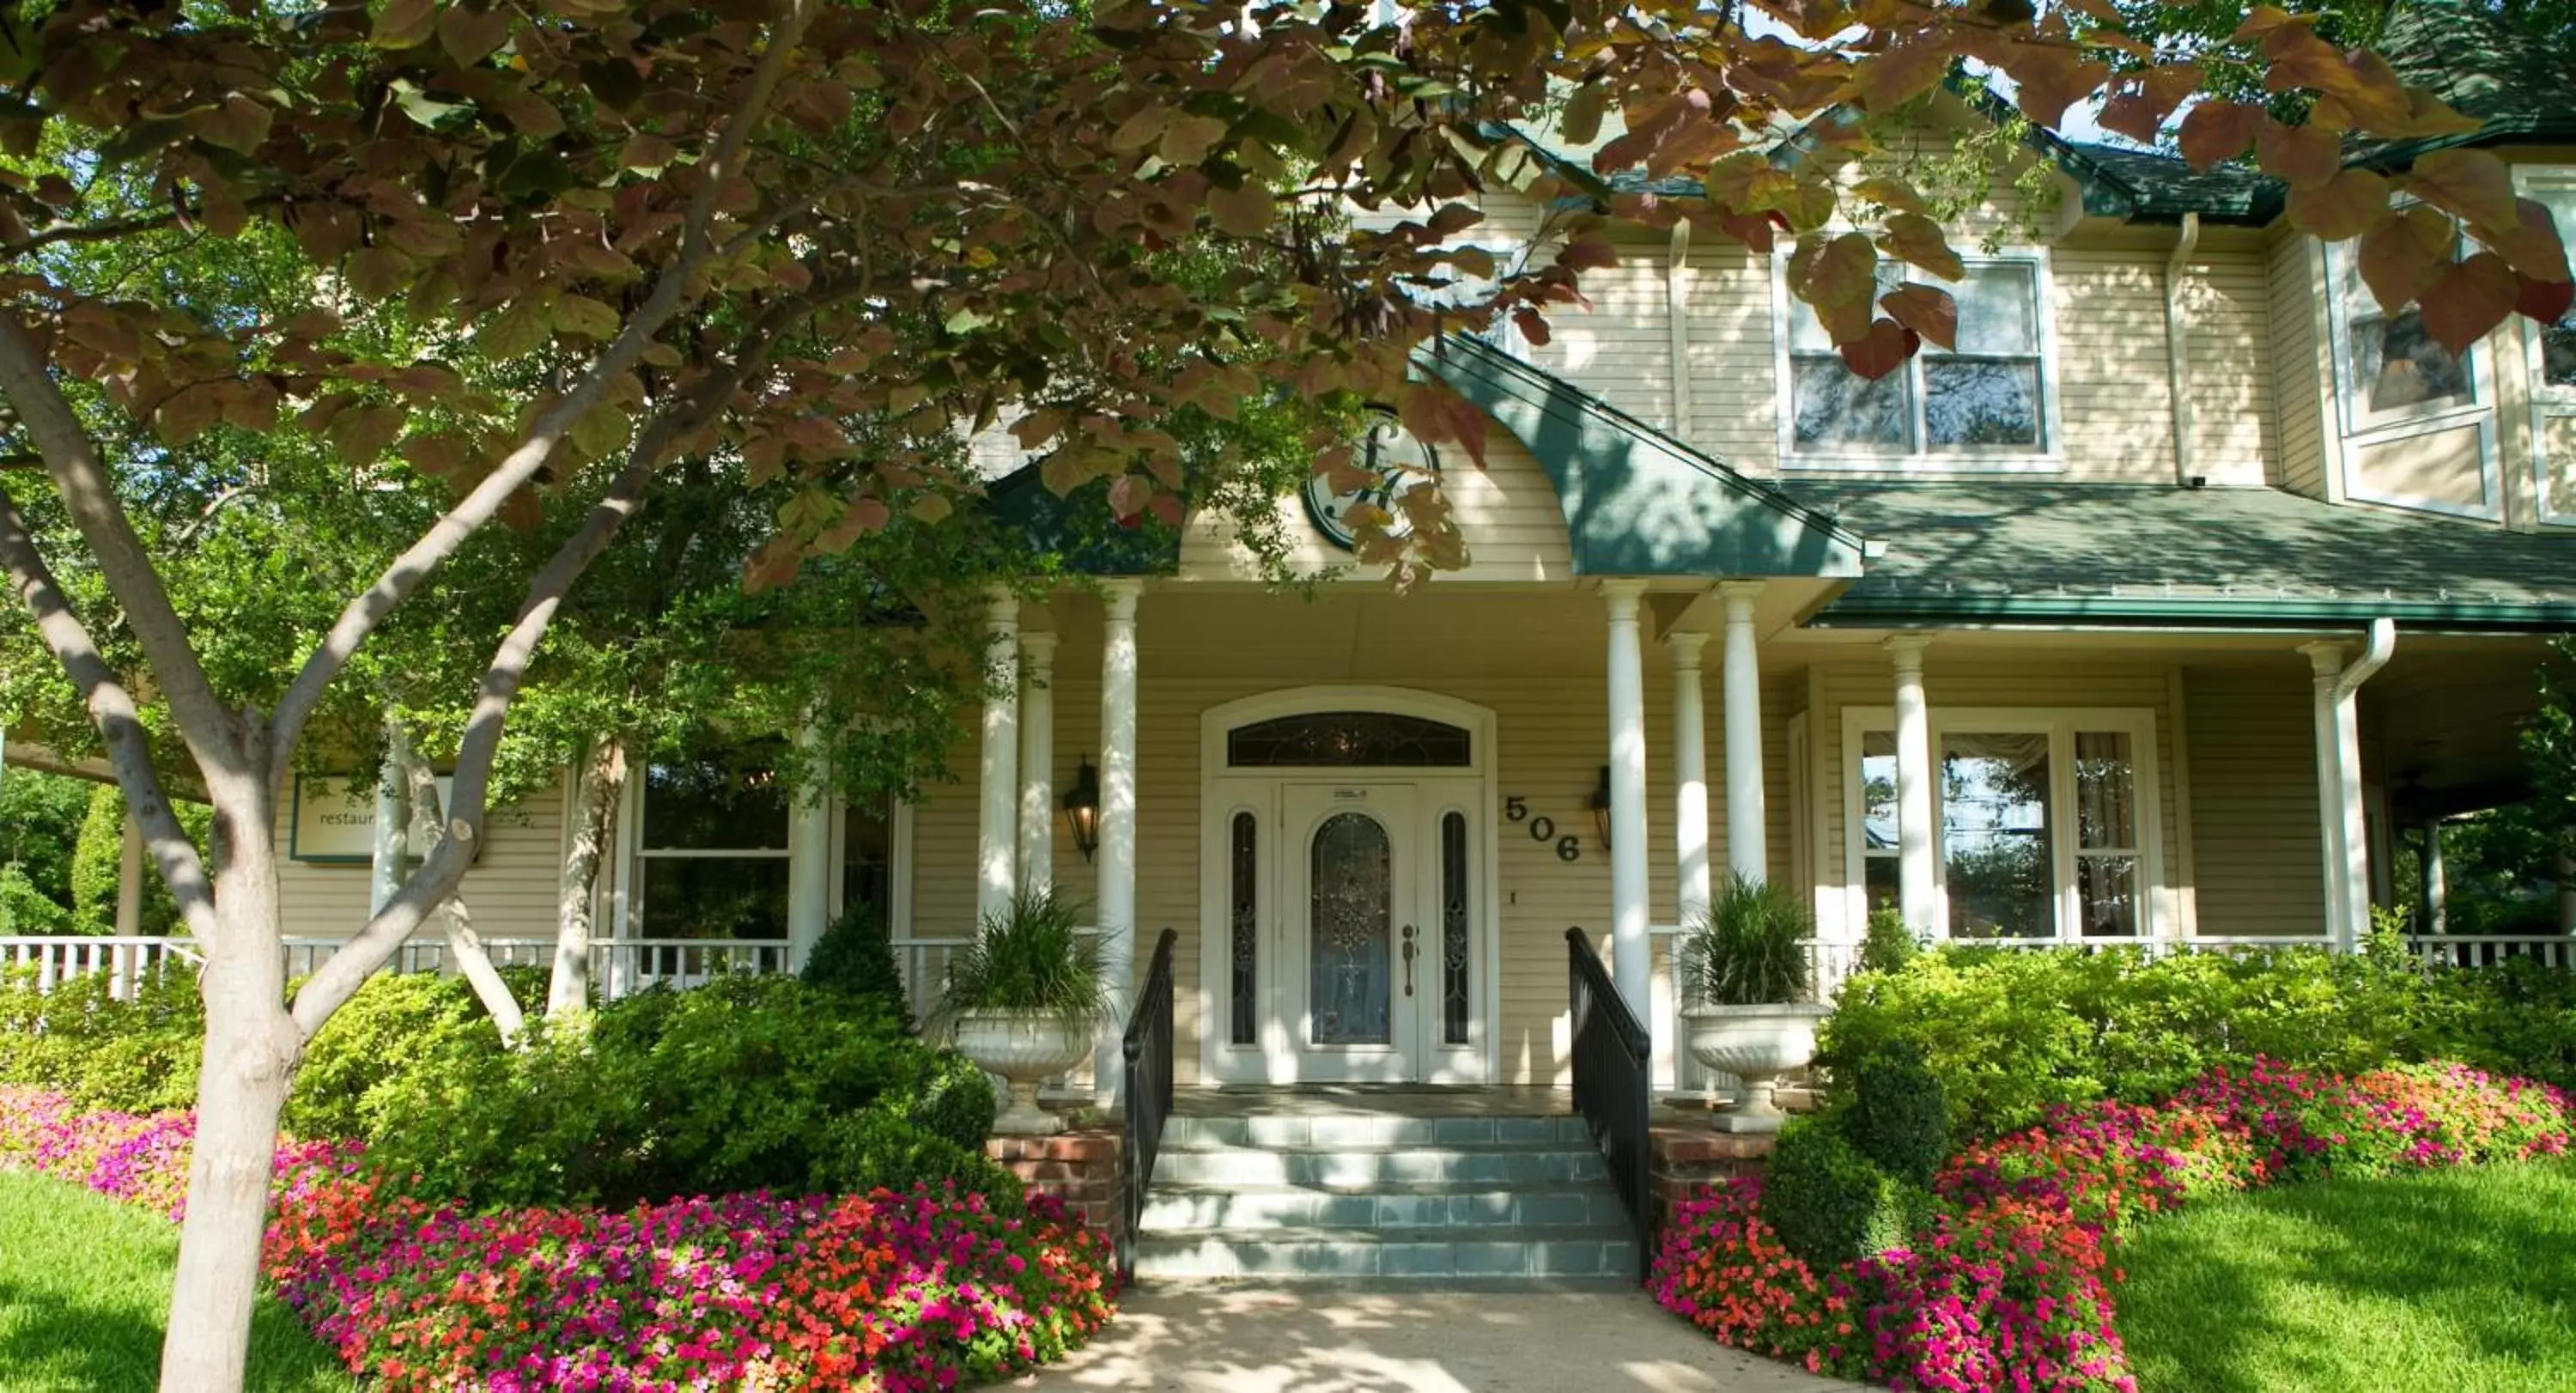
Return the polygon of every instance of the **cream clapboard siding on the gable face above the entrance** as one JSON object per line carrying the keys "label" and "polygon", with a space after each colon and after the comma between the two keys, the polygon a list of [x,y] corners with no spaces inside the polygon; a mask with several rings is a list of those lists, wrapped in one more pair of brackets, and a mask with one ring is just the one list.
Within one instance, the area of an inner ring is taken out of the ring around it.
{"label": "cream clapboard siding on the gable face above the entrance", "polygon": [[[1566,543],[1566,512],[1538,458],[1507,430],[1486,433],[1486,466],[1476,469],[1466,451],[1443,448],[1443,489],[1468,538],[1468,566],[1448,572],[1455,582],[1566,582],[1574,577],[1574,551]],[[1306,518],[1306,502],[1278,502],[1278,523],[1288,538],[1288,564],[1301,574],[1345,566],[1355,584],[1378,584],[1381,572],[1355,566],[1347,551],[1324,541]],[[1252,554],[1234,538],[1226,518],[1198,512],[1180,536],[1180,579],[1247,582],[1260,579]]]}

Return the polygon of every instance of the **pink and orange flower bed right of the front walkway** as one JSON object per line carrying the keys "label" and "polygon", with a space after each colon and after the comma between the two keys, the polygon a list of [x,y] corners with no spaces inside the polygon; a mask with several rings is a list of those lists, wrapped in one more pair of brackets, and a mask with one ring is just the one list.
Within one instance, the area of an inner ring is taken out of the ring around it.
{"label": "pink and orange flower bed right of the front walkway", "polygon": [[2561,1156],[2576,1107],[2458,1063],[2352,1079],[2257,1061],[2172,1102],[2061,1107],[1971,1146],[1911,1246],[1808,1269],[1762,1220],[1762,1182],[1685,1200],[1649,1287],[1721,1344],[1919,1390],[2136,1390],[2112,1290],[2120,1236],[2202,1195],[2321,1174]]}

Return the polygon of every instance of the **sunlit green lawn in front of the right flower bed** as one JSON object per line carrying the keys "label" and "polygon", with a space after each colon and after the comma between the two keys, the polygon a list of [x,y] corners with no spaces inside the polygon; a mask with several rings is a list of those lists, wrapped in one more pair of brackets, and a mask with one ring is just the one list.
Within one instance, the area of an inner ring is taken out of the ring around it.
{"label": "sunlit green lawn in front of the right flower bed", "polygon": [[2143,1393],[2576,1388],[2576,1161],[2208,1200],[2120,1262]]}

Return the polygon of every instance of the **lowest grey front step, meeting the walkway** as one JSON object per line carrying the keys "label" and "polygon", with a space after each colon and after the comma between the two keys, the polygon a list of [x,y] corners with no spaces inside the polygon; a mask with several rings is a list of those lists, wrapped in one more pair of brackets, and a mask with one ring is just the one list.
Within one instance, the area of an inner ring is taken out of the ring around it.
{"label": "lowest grey front step, meeting the walkway", "polygon": [[1633,1282],[1625,1226],[1520,1233],[1461,1228],[1154,1231],[1136,1239],[1136,1277],[1275,1277],[1376,1282]]}

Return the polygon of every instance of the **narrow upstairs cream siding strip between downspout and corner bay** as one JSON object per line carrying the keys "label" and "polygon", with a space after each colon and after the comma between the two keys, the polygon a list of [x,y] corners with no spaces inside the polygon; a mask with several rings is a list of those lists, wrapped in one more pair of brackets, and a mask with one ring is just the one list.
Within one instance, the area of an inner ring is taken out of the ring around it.
{"label": "narrow upstairs cream siding strip between downspout and corner bay", "polygon": [[2272,484],[2280,415],[2272,288],[2262,250],[2202,250],[2184,276],[2192,474],[2215,487]]}

